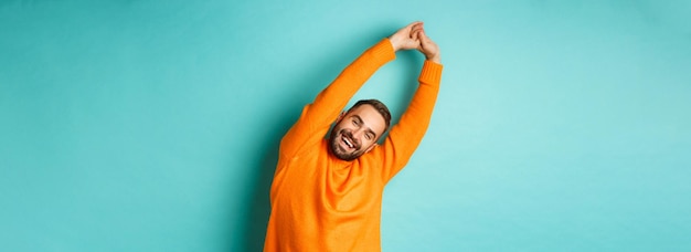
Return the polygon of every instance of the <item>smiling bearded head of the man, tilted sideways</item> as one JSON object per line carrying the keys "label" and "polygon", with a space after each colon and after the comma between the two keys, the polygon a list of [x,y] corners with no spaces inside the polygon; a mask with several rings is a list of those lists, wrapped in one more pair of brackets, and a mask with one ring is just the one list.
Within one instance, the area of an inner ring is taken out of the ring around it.
{"label": "smiling bearded head of the man, tilted sideways", "polygon": [[329,150],[337,158],[353,160],[376,146],[389,129],[391,113],[378,99],[361,99],[342,113],[329,137]]}

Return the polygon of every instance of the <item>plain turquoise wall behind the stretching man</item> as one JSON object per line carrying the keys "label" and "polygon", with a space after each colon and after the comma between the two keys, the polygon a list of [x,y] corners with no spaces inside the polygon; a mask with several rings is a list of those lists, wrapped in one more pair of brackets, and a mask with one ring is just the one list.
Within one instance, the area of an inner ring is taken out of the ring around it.
{"label": "plain turquoise wall behind the stretching man", "polygon": [[[384,251],[690,251],[689,1],[0,3],[1,251],[259,251],[283,134],[426,22],[443,87]],[[400,115],[423,57],[354,99]]]}

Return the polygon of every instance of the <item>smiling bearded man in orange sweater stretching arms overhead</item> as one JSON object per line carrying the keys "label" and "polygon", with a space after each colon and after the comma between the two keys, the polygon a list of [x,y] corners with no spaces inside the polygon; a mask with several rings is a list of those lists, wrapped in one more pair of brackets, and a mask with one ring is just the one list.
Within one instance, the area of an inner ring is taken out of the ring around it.
{"label": "smiling bearded man in orange sweater stretching arms overhead", "polygon": [[[396,51],[412,49],[426,57],[419,86],[379,146],[391,120],[386,106],[365,99],[341,109]],[[366,50],[305,106],[280,141],[264,251],[381,251],[382,192],[427,129],[442,69],[438,46],[414,22]]]}

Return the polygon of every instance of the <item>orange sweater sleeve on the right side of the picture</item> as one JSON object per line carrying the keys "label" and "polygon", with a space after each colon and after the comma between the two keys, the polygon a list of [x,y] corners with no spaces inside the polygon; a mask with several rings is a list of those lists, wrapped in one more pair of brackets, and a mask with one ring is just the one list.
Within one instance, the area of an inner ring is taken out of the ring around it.
{"label": "orange sweater sleeve on the right side of the picture", "polygon": [[425,61],[419,74],[419,86],[413,98],[393,126],[376,157],[382,160],[382,179],[389,181],[407,164],[427,130],[432,112],[439,92],[443,65]]}

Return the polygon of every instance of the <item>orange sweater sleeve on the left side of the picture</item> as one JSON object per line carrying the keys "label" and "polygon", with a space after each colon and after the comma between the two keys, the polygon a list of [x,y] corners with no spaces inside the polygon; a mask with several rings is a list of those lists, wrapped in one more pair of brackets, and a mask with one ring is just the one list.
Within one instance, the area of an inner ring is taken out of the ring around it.
{"label": "orange sweater sleeve on the left side of the picture", "polygon": [[382,65],[394,59],[395,52],[389,39],[381,40],[355,59],[311,104],[302,108],[300,118],[281,139],[279,155],[295,157],[305,146],[318,144],[358,90]]}

